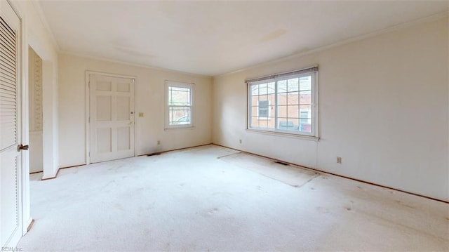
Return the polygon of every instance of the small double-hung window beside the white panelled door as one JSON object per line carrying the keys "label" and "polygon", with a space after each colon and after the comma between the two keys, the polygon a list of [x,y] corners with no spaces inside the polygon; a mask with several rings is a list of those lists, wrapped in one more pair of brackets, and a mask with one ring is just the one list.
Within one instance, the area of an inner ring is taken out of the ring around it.
{"label": "small double-hung window beside the white panelled door", "polygon": [[166,81],[166,128],[193,126],[193,84]]}

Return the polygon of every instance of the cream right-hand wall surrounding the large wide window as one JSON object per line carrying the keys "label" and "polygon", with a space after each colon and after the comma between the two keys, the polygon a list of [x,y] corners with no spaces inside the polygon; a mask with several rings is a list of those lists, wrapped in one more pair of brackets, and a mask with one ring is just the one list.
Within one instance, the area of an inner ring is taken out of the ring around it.
{"label": "cream right-hand wall surrounding the large wide window", "polygon": [[[213,142],[448,201],[448,42],[440,18],[215,77]],[[318,142],[246,130],[244,79],[317,64]]]}

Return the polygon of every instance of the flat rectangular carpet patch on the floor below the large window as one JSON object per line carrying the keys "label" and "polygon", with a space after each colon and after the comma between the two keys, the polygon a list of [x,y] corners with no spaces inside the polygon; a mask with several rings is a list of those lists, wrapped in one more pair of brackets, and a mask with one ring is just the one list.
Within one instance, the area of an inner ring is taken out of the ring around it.
{"label": "flat rectangular carpet patch on the floor below the large window", "polygon": [[319,175],[319,173],[305,168],[279,164],[272,159],[257,157],[243,152],[229,154],[219,158],[222,159],[222,161],[247,168],[267,176],[268,178],[278,180],[294,187],[300,187]]}

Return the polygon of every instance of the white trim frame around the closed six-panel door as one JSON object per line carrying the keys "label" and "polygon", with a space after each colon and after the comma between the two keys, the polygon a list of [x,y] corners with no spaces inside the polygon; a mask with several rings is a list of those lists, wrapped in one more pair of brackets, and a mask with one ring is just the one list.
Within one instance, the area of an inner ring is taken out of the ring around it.
{"label": "white trim frame around the closed six-panel door", "polygon": [[134,80],[134,104],[133,107],[131,107],[130,109],[134,111],[133,117],[134,117],[134,157],[137,157],[137,152],[136,150],[136,146],[137,146],[137,142],[136,142],[136,128],[137,128],[137,121],[136,121],[136,114],[135,113],[135,90],[136,90],[136,84],[137,84],[137,77],[132,76],[132,75],[125,75],[125,74],[110,74],[107,72],[96,72],[96,71],[91,71],[91,70],[86,70],[86,126],[85,126],[85,131],[86,131],[86,153],[85,153],[85,157],[86,157],[86,164],[91,164],[91,157],[90,157],[90,152],[91,152],[91,122],[89,121],[89,118],[91,117],[91,87],[89,85],[89,81],[91,79],[91,75],[102,75],[105,77],[116,77],[116,78],[123,78],[123,79],[133,79]]}

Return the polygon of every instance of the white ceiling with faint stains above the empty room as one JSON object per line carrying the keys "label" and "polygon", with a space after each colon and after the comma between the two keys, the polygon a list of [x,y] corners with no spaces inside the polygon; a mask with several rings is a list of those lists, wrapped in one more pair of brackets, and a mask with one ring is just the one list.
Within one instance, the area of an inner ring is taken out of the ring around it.
{"label": "white ceiling with faint stains above the empty room", "polygon": [[443,13],[449,1],[40,1],[61,51],[218,75]]}

